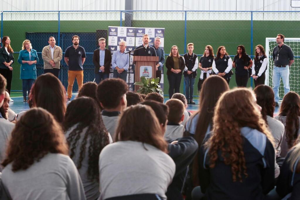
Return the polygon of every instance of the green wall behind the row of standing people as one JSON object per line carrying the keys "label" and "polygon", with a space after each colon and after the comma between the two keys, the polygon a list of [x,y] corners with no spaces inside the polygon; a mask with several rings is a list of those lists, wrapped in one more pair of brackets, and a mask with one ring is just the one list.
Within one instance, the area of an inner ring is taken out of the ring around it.
{"label": "green wall behind the row of standing people", "polygon": [[[119,21],[61,21],[60,32],[95,32],[96,29],[108,29],[108,26],[119,25]],[[172,45],[179,47],[180,54],[184,53],[184,21],[132,21],[132,26],[165,28],[165,53],[170,53]],[[257,44],[265,46],[265,38],[275,38],[278,33],[288,38],[298,38],[300,37],[299,30],[300,21],[253,21],[253,49]],[[26,32],[58,32],[58,21],[4,21],[3,23],[3,36],[10,36],[11,45],[15,51],[21,49]],[[186,37],[187,43],[194,43],[194,53],[196,54],[203,54],[204,47],[208,44],[214,48],[215,53],[219,46],[225,46],[229,55],[235,55],[236,47],[239,44],[243,44],[247,53],[251,54],[250,20],[187,21]],[[44,39],[47,40],[47,38]],[[14,56],[17,59],[18,54],[14,54]],[[13,66],[12,89],[21,90],[22,83],[19,80],[19,64],[15,63]],[[194,95],[197,95],[197,83],[200,71],[197,70],[197,73]],[[168,94],[167,89],[169,86],[166,73],[164,74],[164,85],[164,94]],[[236,86],[235,75],[232,76],[229,86],[231,88]],[[250,86],[250,79],[248,86]],[[183,78],[181,91],[183,91]]]}

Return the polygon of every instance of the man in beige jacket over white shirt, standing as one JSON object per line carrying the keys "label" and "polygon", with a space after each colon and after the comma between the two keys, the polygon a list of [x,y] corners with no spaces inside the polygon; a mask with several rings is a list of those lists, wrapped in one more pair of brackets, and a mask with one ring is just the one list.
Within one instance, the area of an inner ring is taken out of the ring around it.
{"label": "man in beige jacket over white shirt, standing", "polygon": [[55,38],[51,36],[48,40],[49,45],[42,50],[42,58],[44,60],[44,73],[52,73],[57,78],[59,76],[59,66],[62,59],[62,50],[56,46]]}

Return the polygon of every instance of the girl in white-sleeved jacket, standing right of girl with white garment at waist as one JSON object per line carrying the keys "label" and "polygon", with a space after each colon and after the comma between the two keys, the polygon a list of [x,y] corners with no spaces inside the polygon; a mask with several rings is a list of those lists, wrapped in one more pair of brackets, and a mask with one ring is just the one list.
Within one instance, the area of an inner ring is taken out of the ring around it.
{"label": "girl in white-sleeved jacket, standing right of girl with white garment at waist", "polygon": [[231,79],[231,69],[232,60],[226,52],[226,48],[224,46],[220,46],[217,50],[217,57],[212,62],[212,70],[215,74],[225,78],[229,84]]}

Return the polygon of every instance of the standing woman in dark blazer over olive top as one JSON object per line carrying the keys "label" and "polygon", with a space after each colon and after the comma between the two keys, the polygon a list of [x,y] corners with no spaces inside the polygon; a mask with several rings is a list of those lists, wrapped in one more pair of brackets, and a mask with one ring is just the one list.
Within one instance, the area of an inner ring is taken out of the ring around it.
{"label": "standing woman in dark blazer over olive top", "polygon": [[184,70],[184,60],[179,56],[178,47],[172,46],[170,55],[166,59],[167,76],[169,81],[169,97],[174,93],[179,93],[182,71]]}

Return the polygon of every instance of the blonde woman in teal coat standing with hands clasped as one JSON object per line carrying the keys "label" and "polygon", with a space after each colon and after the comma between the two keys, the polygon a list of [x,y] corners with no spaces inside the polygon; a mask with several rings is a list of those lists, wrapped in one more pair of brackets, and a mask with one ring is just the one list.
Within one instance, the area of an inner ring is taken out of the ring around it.
{"label": "blonde woman in teal coat standing with hands clasped", "polygon": [[37,79],[37,68],[35,64],[38,62],[38,54],[32,49],[29,40],[24,40],[22,50],[20,51],[18,62],[21,64],[20,79],[22,79],[22,89],[24,102],[27,102],[28,96],[34,81]]}

